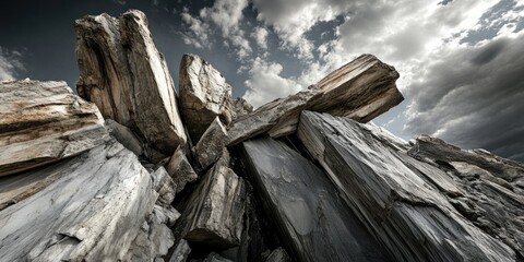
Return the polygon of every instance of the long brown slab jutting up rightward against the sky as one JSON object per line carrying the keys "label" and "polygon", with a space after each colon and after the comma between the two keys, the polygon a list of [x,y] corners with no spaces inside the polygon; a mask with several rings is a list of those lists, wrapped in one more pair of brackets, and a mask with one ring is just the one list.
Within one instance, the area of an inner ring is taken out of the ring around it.
{"label": "long brown slab jutting up rightward against the sky", "polygon": [[362,55],[307,91],[276,99],[239,117],[228,129],[228,144],[235,145],[266,132],[272,138],[295,133],[301,110],[368,122],[404,99],[396,88],[396,79],[398,73],[393,67],[374,56]]}

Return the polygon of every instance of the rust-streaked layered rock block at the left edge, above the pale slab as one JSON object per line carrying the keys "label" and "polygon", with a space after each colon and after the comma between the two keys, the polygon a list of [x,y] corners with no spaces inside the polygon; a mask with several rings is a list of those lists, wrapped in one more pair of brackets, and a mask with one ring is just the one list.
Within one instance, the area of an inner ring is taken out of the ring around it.
{"label": "rust-streaked layered rock block at the left edge, above the pale slab", "polygon": [[0,82],[0,176],[74,156],[106,136],[96,106],[66,82]]}

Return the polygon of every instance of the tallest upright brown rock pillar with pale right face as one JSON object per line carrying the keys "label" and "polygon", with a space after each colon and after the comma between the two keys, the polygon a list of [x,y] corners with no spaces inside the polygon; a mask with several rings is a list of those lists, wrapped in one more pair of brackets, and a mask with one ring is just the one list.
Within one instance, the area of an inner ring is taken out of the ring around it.
{"label": "tallest upright brown rock pillar with pale right face", "polygon": [[175,85],[145,15],[136,10],[119,19],[90,15],[76,20],[75,29],[80,96],[164,154],[184,144]]}

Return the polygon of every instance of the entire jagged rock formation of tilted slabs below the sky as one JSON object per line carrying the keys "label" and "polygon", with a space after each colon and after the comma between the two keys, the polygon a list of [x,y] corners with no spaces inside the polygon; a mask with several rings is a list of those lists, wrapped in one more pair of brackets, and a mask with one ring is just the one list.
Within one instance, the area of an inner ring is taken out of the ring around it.
{"label": "entire jagged rock formation of tilted slabs below the sky", "polygon": [[75,27],[93,103],[0,82],[1,261],[524,261],[524,165],[364,123],[376,57],[253,111],[195,55],[177,102],[140,11]]}

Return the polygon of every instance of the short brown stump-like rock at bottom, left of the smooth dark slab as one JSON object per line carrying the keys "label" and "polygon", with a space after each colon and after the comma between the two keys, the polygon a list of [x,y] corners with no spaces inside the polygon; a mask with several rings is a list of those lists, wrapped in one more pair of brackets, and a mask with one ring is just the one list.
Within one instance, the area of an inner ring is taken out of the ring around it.
{"label": "short brown stump-like rock at bottom, left of the smooth dark slab", "polygon": [[243,227],[245,181],[231,169],[215,165],[192,192],[176,234],[215,248],[239,243]]}

